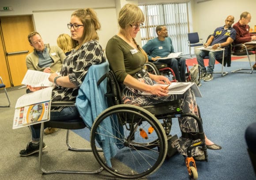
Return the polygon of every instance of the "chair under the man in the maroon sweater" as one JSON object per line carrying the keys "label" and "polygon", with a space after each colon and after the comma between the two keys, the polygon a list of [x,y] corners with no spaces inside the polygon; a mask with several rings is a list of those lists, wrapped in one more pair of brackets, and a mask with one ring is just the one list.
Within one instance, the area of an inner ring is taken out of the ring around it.
{"label": "chair under the man in the maroon sweater", "polygon": [[[241,53],[239,50],[238,51],[235,50],[236,47],[242,47],[242,46],[245,47],[245,51],[243,53]],[[252,63],[251,63],[251,59],[250,59],[249,55],[256,54],[256,51],[253,51],[251,49],[247,49],[245,44],[232,44],[232,47],[233,47],[233,50],[234,50],[233,51],[233,55],[237,55],[237,56],[247,55],[250,69],[240,68],[240,69],[231,71],[231,73],[248,73],[248,74],[252,74],[253,73],[253,68],[252,68]]]}

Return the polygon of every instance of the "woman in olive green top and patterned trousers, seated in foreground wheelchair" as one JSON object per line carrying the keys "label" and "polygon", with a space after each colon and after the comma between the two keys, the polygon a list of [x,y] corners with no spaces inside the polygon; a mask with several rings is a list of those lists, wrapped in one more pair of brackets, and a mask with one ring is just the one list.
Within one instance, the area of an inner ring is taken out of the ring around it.
{"label": "woman in olive green top and patterned trousers, seated in foreground wheelchair", "polygon": [[[126,4],[119,13],[118,23],[120,30],[113,36],[106,46],[106,56],[110,69],[113,70],[117,81],[124,84],[122,91],[124,104],[147,106],[182,99],[182,109],[185,113],[198,115],[196,99],[191,89],[182,95],[168,95],[166,85],[171,82],[165,76],[157,76],[144,70],[147,54],[135,41],[139,28],[143,26],[144,15],[135,4]],[[160,83],[152,86],[153,81]],[[142,92],[152,95],[143,96]],[[191,117],[179,118],[180,128],[183,132],[199,132],[197,122]],[[187,155],[187,147],[192,140],[180,138],[174,142],[181,154]],[[208,149],[218,150],[220,146],[205,139]],[[203,151],[198,147],[193,148],[192,156],[203,156]]]}

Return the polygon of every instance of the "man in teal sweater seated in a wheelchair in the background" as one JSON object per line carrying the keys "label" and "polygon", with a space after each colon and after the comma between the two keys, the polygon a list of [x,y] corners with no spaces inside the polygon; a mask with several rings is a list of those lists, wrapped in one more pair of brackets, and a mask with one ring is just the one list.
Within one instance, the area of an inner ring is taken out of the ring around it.
{"label": "man in teal sweater seated in a wheelchair in the background", "polygon": [[169,58],[159,59],[167,57],[170,53],[174,52],[172,40],[168,37],[168,30],[166,26],[159,25],[156,27],[156,33],[158,37],[147,41],[142,47],[147,53],[148,60],[151,62],[165,63],[170,67],[179,82],[186,81],[186,59],[185,58]]}

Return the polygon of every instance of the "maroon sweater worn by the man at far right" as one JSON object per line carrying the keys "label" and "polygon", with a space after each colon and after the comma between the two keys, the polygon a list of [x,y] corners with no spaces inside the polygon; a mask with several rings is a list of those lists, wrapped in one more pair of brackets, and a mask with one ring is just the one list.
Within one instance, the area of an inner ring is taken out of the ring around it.
{"label": "maroon sweater worn by the man at far right", "polygon": [[248,25],[241,25],[238,21],[233,25],[233,28],[237,31],[236,39],[234,40],[235,44],[241,44],[252,41],[251,36],[253,34],[249,33],[249,26]]}

